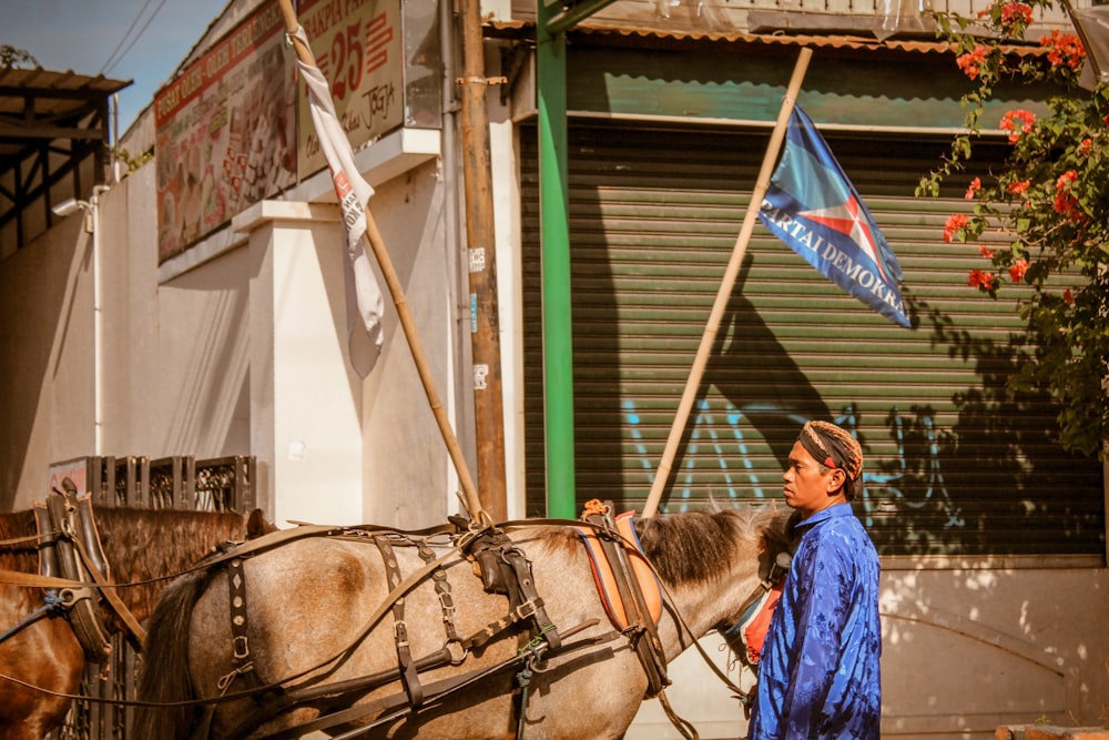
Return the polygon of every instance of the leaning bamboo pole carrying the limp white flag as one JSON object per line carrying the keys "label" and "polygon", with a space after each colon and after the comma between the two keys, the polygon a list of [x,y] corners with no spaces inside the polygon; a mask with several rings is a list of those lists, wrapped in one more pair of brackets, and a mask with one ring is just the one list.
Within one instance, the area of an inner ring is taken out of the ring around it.
{"label": "leaning bamboo pole carrying the limp white flag", "polygon": [[[301,22],[296,18],[296,11],[293,10],[292,0],[281,0],[281,8],[282,13],[285,16],[285,29],[296,50],[297,59],[305,65],[317,67],[312,49],[296,37]],[[346,146],[349,146],[349,142],[346,139],[344,139],[344,142]],[[393,295],[393,304],[396,306],[397,316],[400,318],[400,326],[404,328],[405,338],[408,339],[408,348],[413,353],[416,369],[419,372],[420,381],[424,384],[424,393],[427,395],[435,420],[439,425],[439,433],[447,445],[450,459],[458,472],[458,481],[464,495],[462,504],[471,519],[481,524],[491,524],[488,514],[481,508],[481,500],[478,498],[477,489],[474,487],[474,479],[470,477],[469,468],[466,466],[466,458],[462,456],[461,446],[458,444],[458,438],[450,427],[450,419],[447,418],[447,412],[444,409],[442,403],[439,401],[439,395],[435,389],[435,379],[431,377],[427,356],[424,354],[419,335],[416,333],[416,323],[411,317],[411,312],[408,310],[408,300],[405,297],[404,287],[400,285],[400,280],[393,268],[393,261],[389,259],[389,253],[385,249],[385,242],[377,230],[377,223],[374,221],[374,216],[368,207],[366,209],[366,239],[374,250],[374,256],[377,257],[377,264],[381,268],[385,283],[389,286],[389,293]]]}

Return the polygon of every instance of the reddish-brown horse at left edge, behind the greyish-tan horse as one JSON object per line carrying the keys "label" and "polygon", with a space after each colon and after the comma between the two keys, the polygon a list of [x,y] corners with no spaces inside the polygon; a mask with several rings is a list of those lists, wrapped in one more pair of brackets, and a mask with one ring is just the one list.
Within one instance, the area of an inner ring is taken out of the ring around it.
{"label": "reddish-brown horse at left edge, behind the greyish-tan horse", "polygon": [[[184,572],[217,545],[247,537],[248,524],[264,528],[261,514],[171,509],[98,508],[96,526],[103,554],[120,600],[135,619],[146,619],[171,576]],[[272,528],[272,527],[271,527]],[[257,534],[261,534],[258,531]],[[39,556],[34,513],[0,514],[0,569],[37,574]],[[65,696],[78,691],[85,653],[64,611],[53,609],[21,629],[13,629],[43,607],[44,590],[0,582],[0,738],[40,740],[59,727],[70,707]],[[119,630],[122,625],[109,625]]]}

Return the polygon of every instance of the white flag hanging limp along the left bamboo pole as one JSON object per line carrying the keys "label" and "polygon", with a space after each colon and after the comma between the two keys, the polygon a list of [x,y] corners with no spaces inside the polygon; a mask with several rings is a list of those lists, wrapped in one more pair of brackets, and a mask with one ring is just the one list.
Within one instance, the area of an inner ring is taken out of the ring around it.
{"label": "white flag hanging limp along the left bamboo pole", "polygon": [[[296,29],[296,38],[305,48],[308,39],[304,28]],[[354,163],[354,152],[350,142],[335,114],[335,103],[319,68],[305,64],[299,59],[297,69],[308,85],[308,108],[312,111],[312,122],[319,136],[319,148],[327,159],[327,168],[332,172],[335,194],[343,210],[343,227],[347,235],[347,317],[349,323],[350,363],[359,376],[366,377],[377,363],[381,352],[381,316],[385,313],[385,301],[377,286],[374,271],[366,254],[366,204],[374,195],[374,189],[363,180]],[[352,295],[352,293],[354,295]],[[352,307],[357,305],[357,321]]]}

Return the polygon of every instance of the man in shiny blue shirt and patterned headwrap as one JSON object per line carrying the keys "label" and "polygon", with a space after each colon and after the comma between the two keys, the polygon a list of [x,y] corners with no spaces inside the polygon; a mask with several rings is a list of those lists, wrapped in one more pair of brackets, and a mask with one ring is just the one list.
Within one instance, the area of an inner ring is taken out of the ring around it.
{"label": "man in shiny blue shirt and patterned headwrap", "polygon": [[878,555],[851,509],[863,450],[843,428],[808,422],[783,493],[801,543],[759,662],[749,740],[878,738]]}

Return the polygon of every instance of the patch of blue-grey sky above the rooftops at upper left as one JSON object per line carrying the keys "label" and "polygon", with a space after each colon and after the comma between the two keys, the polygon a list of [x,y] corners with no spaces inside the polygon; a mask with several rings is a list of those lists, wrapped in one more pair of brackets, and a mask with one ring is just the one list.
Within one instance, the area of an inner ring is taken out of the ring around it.
{"label": "patch of blue-grey sky above the rooftops at upper left", "polygon": [[133,80],[120,91],[124,132],[228,0],[0,0],[0,44],[43,69]]}

